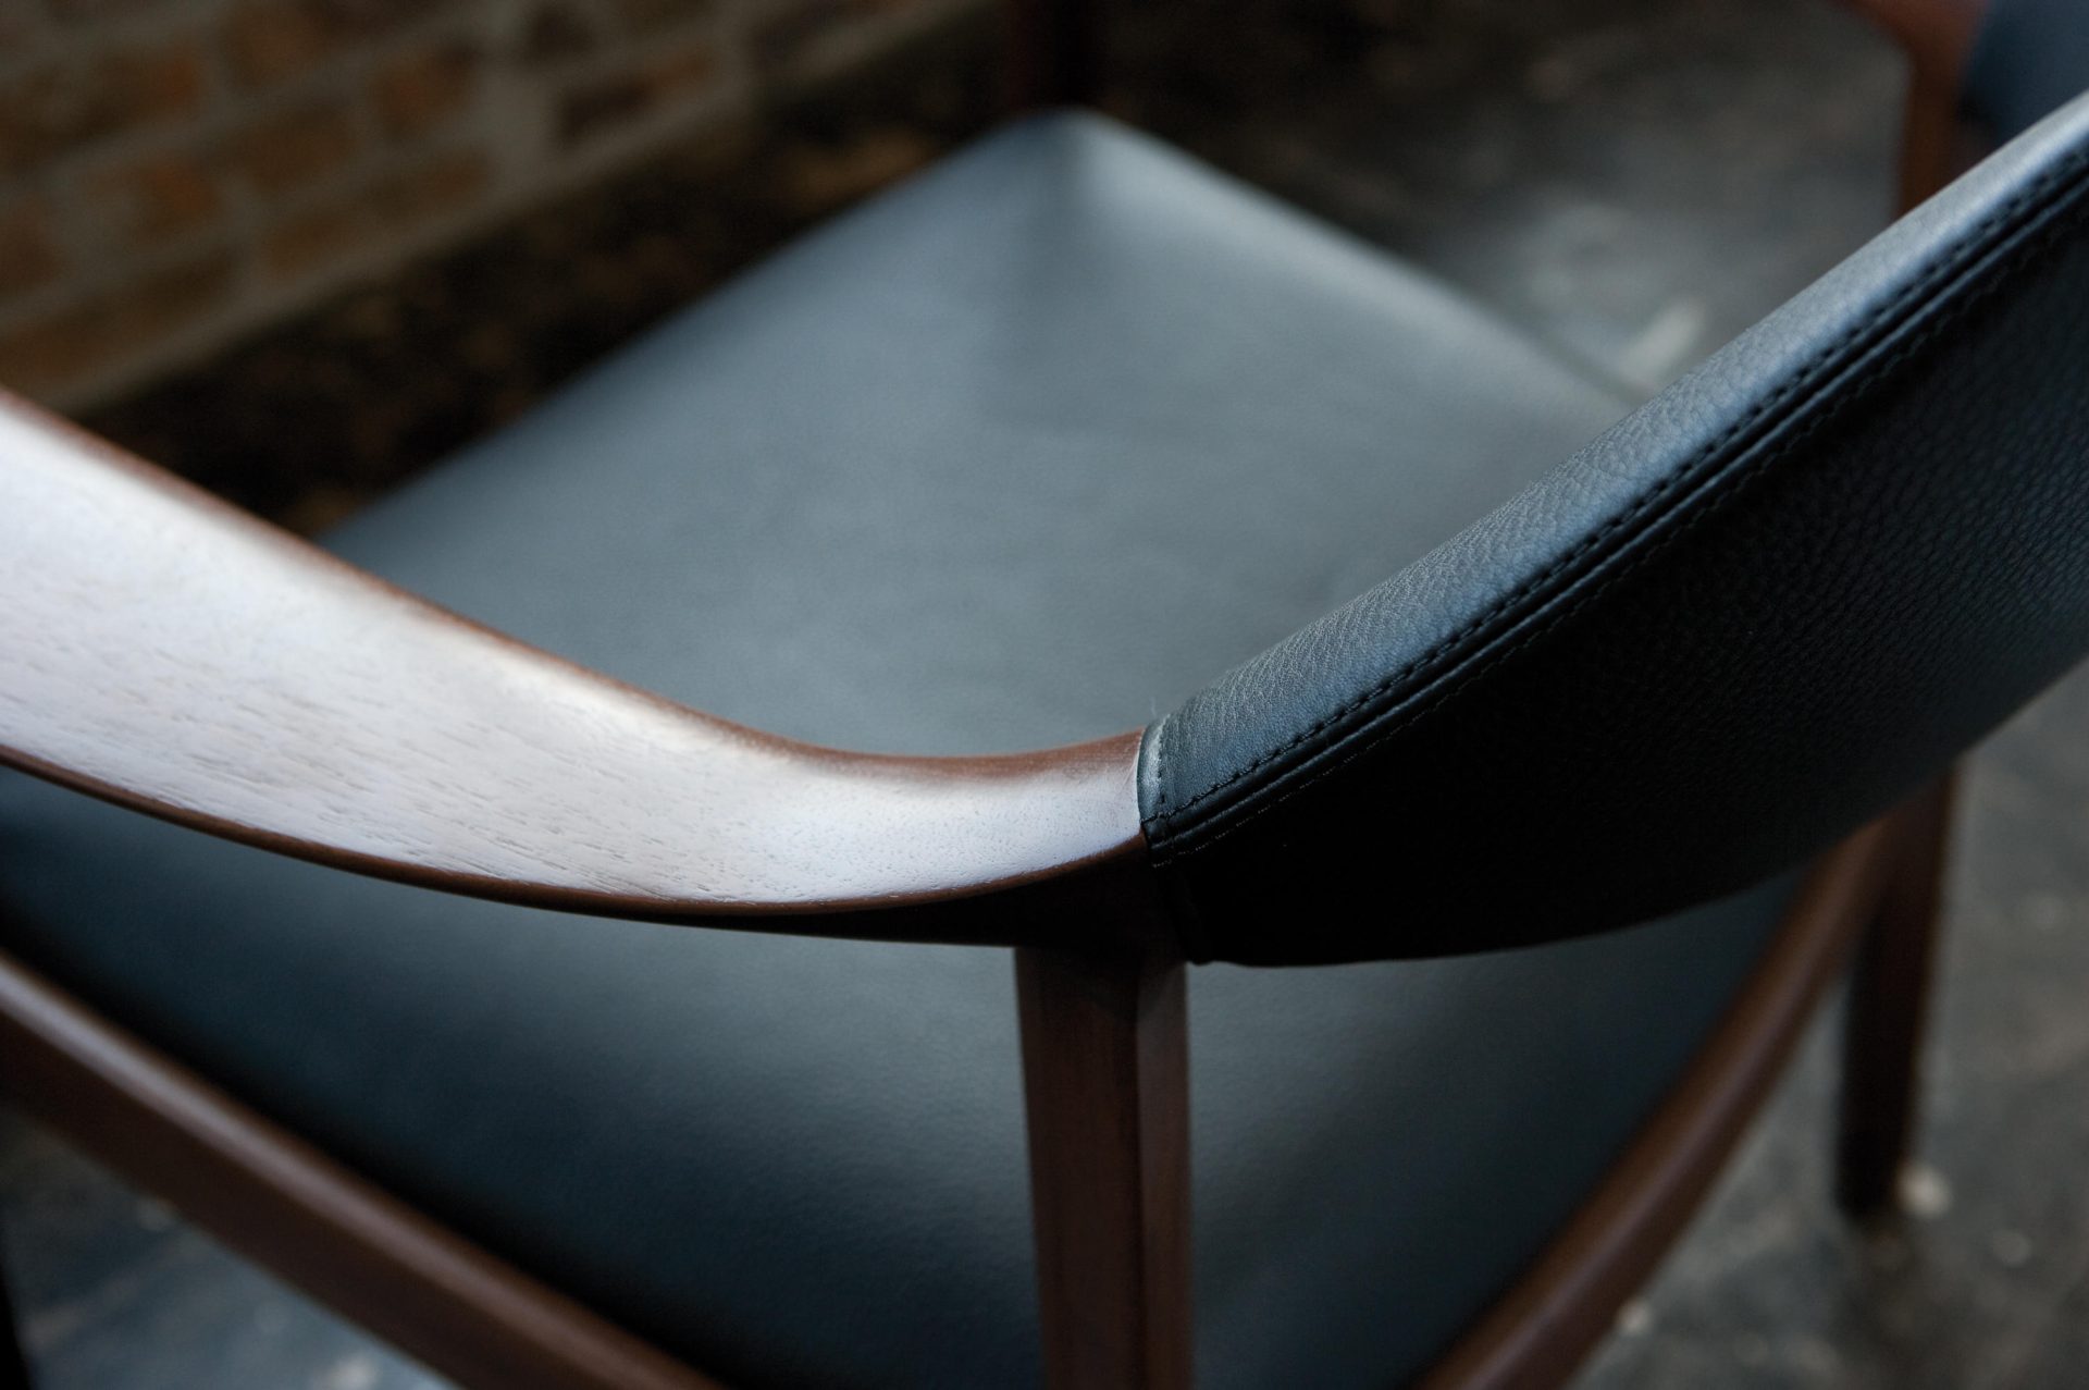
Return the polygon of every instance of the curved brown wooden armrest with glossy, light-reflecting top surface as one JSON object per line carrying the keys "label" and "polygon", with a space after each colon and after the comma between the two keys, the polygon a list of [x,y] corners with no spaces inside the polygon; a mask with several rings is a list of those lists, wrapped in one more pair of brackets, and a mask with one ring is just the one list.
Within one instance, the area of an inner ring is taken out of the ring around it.
{"label": "curved brown wooden armrest with glossy, light-reflecting top surface", "polygon": [[363,874],[1022,941],[980,911],[859,913],[1143,847],[1136,734],[982,759],[771,738],[443,612],[4,395],[0,566],[0,761]]}

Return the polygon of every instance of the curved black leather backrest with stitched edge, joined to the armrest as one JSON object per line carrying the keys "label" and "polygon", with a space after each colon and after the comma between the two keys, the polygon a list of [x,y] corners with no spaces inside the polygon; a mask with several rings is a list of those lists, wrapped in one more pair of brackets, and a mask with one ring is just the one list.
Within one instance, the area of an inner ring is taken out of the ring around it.
{"label": "curved black leather backrest with stitched edge, joined to the armrest", "polygon": [[1141,805],[1199,957],[1517,945],[1799,863],[2085,652],[2089,98],[1155,723]]}

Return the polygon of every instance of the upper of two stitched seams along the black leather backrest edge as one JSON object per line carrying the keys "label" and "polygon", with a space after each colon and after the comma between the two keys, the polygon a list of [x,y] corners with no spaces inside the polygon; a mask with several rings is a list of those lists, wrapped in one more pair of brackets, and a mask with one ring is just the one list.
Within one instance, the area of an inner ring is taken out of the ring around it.
{"label": "upper of two stitched seams along the black leather backrest edge", "polygon": [[[1590,550],[1594,550],[1604,539],[1609,539],[1611,533],[1615,533],[1621,527],[1632,525],[1644,512],[1648,512],[1654,504],[1659,504],[1665,495],[1669,495],[1671,491],[1675,491],[1684,483],[1688,483],[1688,481],[1700,477],[1703,472],[1707,472],[1709,470],[1707,466],[1715,462],[1713,456],[1717,456],[1721,449],[1726,449],[1726,445],[1730,445],[1740,433],[1753,428],[1767,412],[1771,412],[1776,406],[1782,406],[1790,395],[1794,395],[1799,391],[1805,391],[1807,387],[1813,387],[1824,372],[1828,372],[1832,366],[1836,366],[1836,360],[1857,339],[1863,339],[1870,332],[1878,330],[1888,318],[1893,318],[1901,309],[1905,309],[1911,299],[1916,299],[1918,295],[1922,295],[1928,288],[1932,288],[1939,280],[1951,278],[1968,261],[1978,259],[1982,253],[1987,253],[1995,245],[1999,245],[1999,240],[2005,240],[2005,238],[1991,240],[1989,232],[1993,232],[1999,224],[2010,222],[2012,217],[2016,217],[2031,203],[2035,203],[2037,199],[2045,196],[2045,192],[2049,192],[2056,184],[2060,184],[2060,182],[2072,178],[2074,173],[2079,173],[2085,165],[2089,165],[2089,155],[2072,155],[2070,159],[2058,163],[2053,169],[2047,169],[2043,176],[2039,176],[2037,182],[2033,182],[2031,186],[2026,186],[2024,190],[2016,192],[2012,199],[2008,199],[2005,203],[2001,203],[1999,207],[1995,207],[1993,211],[1989,211],[1985,217],[1980,217],[1980,222],[1976,222],[1972,228],[1968,228],[1966,234],[1951,247],[1951,251],[1945,253],[1937,263],[1932,263],[1928,270],[1924,270],[1909,284],[1905,284],[1899,291],[1895,291],[1895,295],[1886,303],[1878,305],[1861,322],[1857,322],[1847,332],[1842,332],[1840,337],[1836,337],[1832,343],[1828,343],[1820,351],[1815,351],[1805,364],[1801,364],[1801,368],[1797,372],[1792,372],[1792,376],[1788,376],[1769,395],[1765,395],[1761,401],[1757,401],[1755,406],[1751,406],[1738,420],[1734,420],[1723,431],[1719,431],[1713,439],[1709,439],[1705,445],[1700,445],[1698,451],[1690,456],[1690,460],[1686,460],[1675,470],[1671,470],[1667,477],[1659,479],[1652,487],[1648,487],[1644,493],[1640,493],[1640,497],[1636,497],[1623,512],[1619,512],[1619,514],[1611,516],[1609,520],[1604,520],[1600,527],[1596,527],[1596,531],[1592,531],[1586,537],[1581,537],[1579,541],[1575,541],[1573,548],[1569,548],[1565,554],[1560,554],[1558,558],[1554,558],[1542,571],[1538,571],[1535,575],[1531,575],[1529,579],[1525,579],[1523,583],[1519,583],[1508,594],[1496,598],[1481,612],[1477,612],[1475,617],[1466,619],[1456,631],[1452,631],[1452,633],[1439,638],[1437,642],[1433,642],[1425,652],[1421,652],[1418,656],[1410,658],[1408,663],[1404,663],[1393,673],[1389,673],[1383,679],[1379,679],[1370,690],[1362,692],[1360,696],[1354,696],[1352,700],[1347,700],[1345,704],[1341,704],[1333,713],[1322,715],[1320,719],[1316,719],[1308,727],[1304,727],[1297,734],[1293,734],[1291,738],[1287,738],[1283,744],[1278,744],[1278,746],[1274,746],[1274,748],[1258,755],[1251,763],[1235,769],[1226,778],[1222,778],[1222,780],[1214,782],[1212,786],[1199,790],[1197,794],[1189,796],[1180,805],[1168,807],[1168,792],[1166,792],[1166,786],[1161,784],[1161,775],[1159,775],[1161,773],[1159,761],[1161,761],[1164,750],[1161,750],[1159,740],[1155,740],[1155,744],[1153,744],[1153,765],[1155,765],[1157,805],[1155,805],[1153,813],[1145,817],[1147,836],[1149,838],[1153,838],[1153,836],[1166,838],[1170,834],[1168,821],[1172,817],[1180,817],[1180,815],[1189,813],[1197,805],[1210,801],[1212,796],[1218,796],[1220,792],[1228,790],[1230,786],[1243,782],[1245,778],[1255,775],[1258,771],[1262,771],[1270,763],[1283,759],[1285,755],[1289,755],[1291,750],[1295,750],[1299,744],[1306,744],[1306,742],[1318,738],[1322,732],[1327,732],[1329,727],[1345,721],[1347,717],[1352,717],[1362,706],[1377,702],[1381,696],[1385,696],[1387,692],[1391,692],[1404,679],[1408,679],[1410,675],[1416,675],[1418,671],[1423,671],[1425,667],[1429,667],[1437,658],[1446,656],[1452,648],[1456,648],[1458,644],[1466,642],[1475,631],[1479,631],[1481,627],[1485,627],[1487,623],[1492,623],[1506,608],[1515,606],[1517,602],[1529,598],[1535,589],[1540,589],[1546,583],[1550,583],[1554,577],[1558,577],[1558,573],[1563,569],[1567,569],[1573,562],[1581,560]],[[1997,274],[1999,274],[1999,270],[1997,270]],[[1972,303],[1972,299],[1968,299],[1966,303]],[[1957,307],[1953,307],[1949,311],[1957,314]],[[1884,364],[1880,364],[1880,366],[1884,366]],[[1652,518],[1648,523],[1648,529],[1652,525],[1659,525],[1659,520],[1661,520],[1659,516]],[[1629,543],[1629,539],[1632,537],[1627,537],[1625,541],[1621,541],[1621,546]],[[1600,564],[1600,560],[1598,560],[1598,564]],[[1485,654],[1485,648],[1481,648],[1479,652],[1475,652],[1475,656],[1483,656],[1483,654]]]}

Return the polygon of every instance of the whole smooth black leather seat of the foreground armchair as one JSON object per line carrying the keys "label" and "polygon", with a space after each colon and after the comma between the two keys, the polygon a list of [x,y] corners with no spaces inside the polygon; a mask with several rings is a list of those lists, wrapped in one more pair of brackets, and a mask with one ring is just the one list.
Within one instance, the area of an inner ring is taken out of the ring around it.
{"label": "whole smooth black leather seat of the foreground armchair", "polygon": [[[1024,748],[1172,709],[1623,408],[1379,255],[1055,117],[334,543],[769,729]],[[1197,972],[1205,1384],[1423,1365],[1632,1135],[1784,897],[1458,962]],[[19,775],[0,905],[6,949],[731,1384],[1036,1380],[1003,951],[572,924]]]}

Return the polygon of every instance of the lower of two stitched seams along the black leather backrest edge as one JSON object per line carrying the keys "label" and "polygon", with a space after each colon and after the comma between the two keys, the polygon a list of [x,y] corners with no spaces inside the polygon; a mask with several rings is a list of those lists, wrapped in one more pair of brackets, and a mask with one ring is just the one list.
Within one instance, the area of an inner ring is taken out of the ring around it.
{"label": "lower of two stitched seams along the black leather backrest edge", "polygon": [[[2089,161],[2076,161],[2076,163],[2089,163]],[[1980,284],[1970,286],[1959,297],[1957,303],[1951,303],[1949,307],[1945,307],[1937,316],[1937,322],[1932,322],[1928,328],[1924,328],[1922,332],[1918,332],[1914,339],[1909,339],[1907,343],[1895,347],[1891,353],[1886,353],[1884,357],[1880,357],[1878,364],[1874,364],[1868,370],[1865,378],[1849,395],[1832,401],[1826,410],[1822,410],[1815,416],[1811,416],[1809,420],[1805,420],[1788,439],[1784,439],[1782,443],[1778,443],[1774,449],[1769,449],[1767,454],[1763,454],[1755,462],[1742,466],[1734,477],[1717,481],[1715,483],[1715,489],[1719,493],[1717,497],[1709,500],[1703,508],[1698,508],[1696,512],[1692,512],[1690,516],[1686,516],[1682,525],[1677,525],[1673,531],[1669,531],[1659,541],[1654,541],[1652,546],[1648,546],[1644,552],[1640,552],[1638,556],[1634,556],[1629,562],[1625,562],[1623,566],[1619,566],[1615,573],[1604,575],[1602,581],[1596,583],[1596,587],[1592,587],[1592,589],[1575,596],[1567,606],[1563,606],[1560,610],[1556,610],[1550,617],[1546,617],[1538,627],[1533,627],[1531,631],[1523,633],[1512,644],[1496,648],[1492,652],[1489,650],[1475,652],[1473,654],[1473,663],[1477,663],[1477,665],[1473,665],[1469,671],[1464,671],[1464,675],[1460,675],[1456,681],[1452,681],[1450,686],[1446,686],[1446,688],[1437,690],[1435,694],[1427,696],[1421,704],[1416,704],[1416,706],[1400,713],[1389,723],[1385,723],[1385,725],[1381,725],[1377,729],[1370,729],[1370,732],[1375,732],[1379,736],[1377,740],[1372,740],[1370,746],[1354,746],[1354,748],[1349,748],[1335,763],[1331,763],[1329,767],[1322,767],[1320,771],[1312,773],[1310,778],[1306,778],[1297,786],[1287,788],[1285,792],[1281,792],[1278,796],[1274,796],[1270,803],[1266,803],[1262,807],[1255,807],[1247,815],[1241,815],[1241,817],[1237,817],[1237,819],[1233,819],[1228,824],[1218,826],[1216,830],[1212,830],[1205,836],[1199,836],[1191,844],[1172,844],[1172,847],[1168,847],[1166,857],[1161,859],[1161,863],[1168,863],[1168,861],[1174,861],[1174,859],[1182,859],[1182,857],[1195,855],[1195,853],[1199,853],[1203,849],[1210,849],[1212,844],[1218,844],[1220,840],[1224,840],[1226,836],[1230,836],[1235,830],[1253,824],[1255,819],[1260,819],[1268,811],[1274,811],[1276,807],[1281,807],[1287,801],[1291,801],[1293,796],[1306,792],[1308,788],[1312,788],[1320,780],[1324,780],[1324,778],[1341,771],[1343,767],[1347,767],[1356,759],[1360,759],[1366,752],[1370,752],[1370,748],[1377,742],[1383,742],[1383,738],[1389,738],[1389,736],[1398,734],[1400,729],[1412,725],[1414,721],[1418,721],[1425,715],[1433,713],[1435,709],[1443,706],[1448,700],[1452,700],[1466,686],[1471,686],[1473,681],[1477,681],[1479,677],[1483,677],[1487,671],[1492,671],[1494,667],[1502,665],[1504,661],[1508,661],[1510,656],[1515,656],[1519,650],[1523,650],[1525,646],[1538,642],[1548,631],[1552,631],[1554,627],[1558,627],[1560,623],[1565,623],[1567,619],[1571,619],[1575,612],[1579,612],[1581,608],[1586,608],[1588,604],[1592,604],[1611,585],[1615,585],[1617,581],[1621,581],[1621,579],[1629,577],[1632,573],[1636,573],[1640,566],[1644,566],[1650,560],[1654,560],[1661,552],[1665,552],[1677,539],[1682,539],[1684,535],[1688,535],[1703,520],[1707,520],[1707,516],[1715,514],[1728,502],[1732,502],[1736,495],[1740,495],[1742,487],[1748,481],[1753,481],[1757,474],[1765,472],[1767,468],[1771,468],[1774,464],[1778,464],[1780,460],[1784,460],[1792,449],[1797,449],[1811,435],[1815,435],[1826,422],[1834,420],[1838,414],[1842,414],[1853,403],[1857,403],[1859,397],[1863,397],[1872,389],[1876,389],[1886,378],[1886,374],[1893,368],[1897,368],[1909,355],[1914,355],[1914,353],[1922,351],[1924,347],[1928,347],[1928,343],[1939,332],[1943,332],[1945,328],[1949,328],[1951,324],[1955,324],[1959,318],[1964,318],[1968,311],[1972,311],[1974,305],[1978,305],[1980,301],[1989,299],[1995,291],[1999,291],[2003,278],[2010,276],[2010,274],[2014,274],[2016,270],[2020,270],[2022,261],[2026,261],[2037,251],[2043,251],[2064,230],[2070,230],[2076,222],[2081,222],[2081,209],[2072,209],[2072,213],[2074,213],[2072,217],[2064,217],[2064,219],[2056,222],[2053,226],[2049,226],[2043,232],[2039,232],[2035,238],[2031,238],[2024,245],[2014,247],[2012,251],[2008,251],[2008,257],[1999,265],[1995,265]]]}

